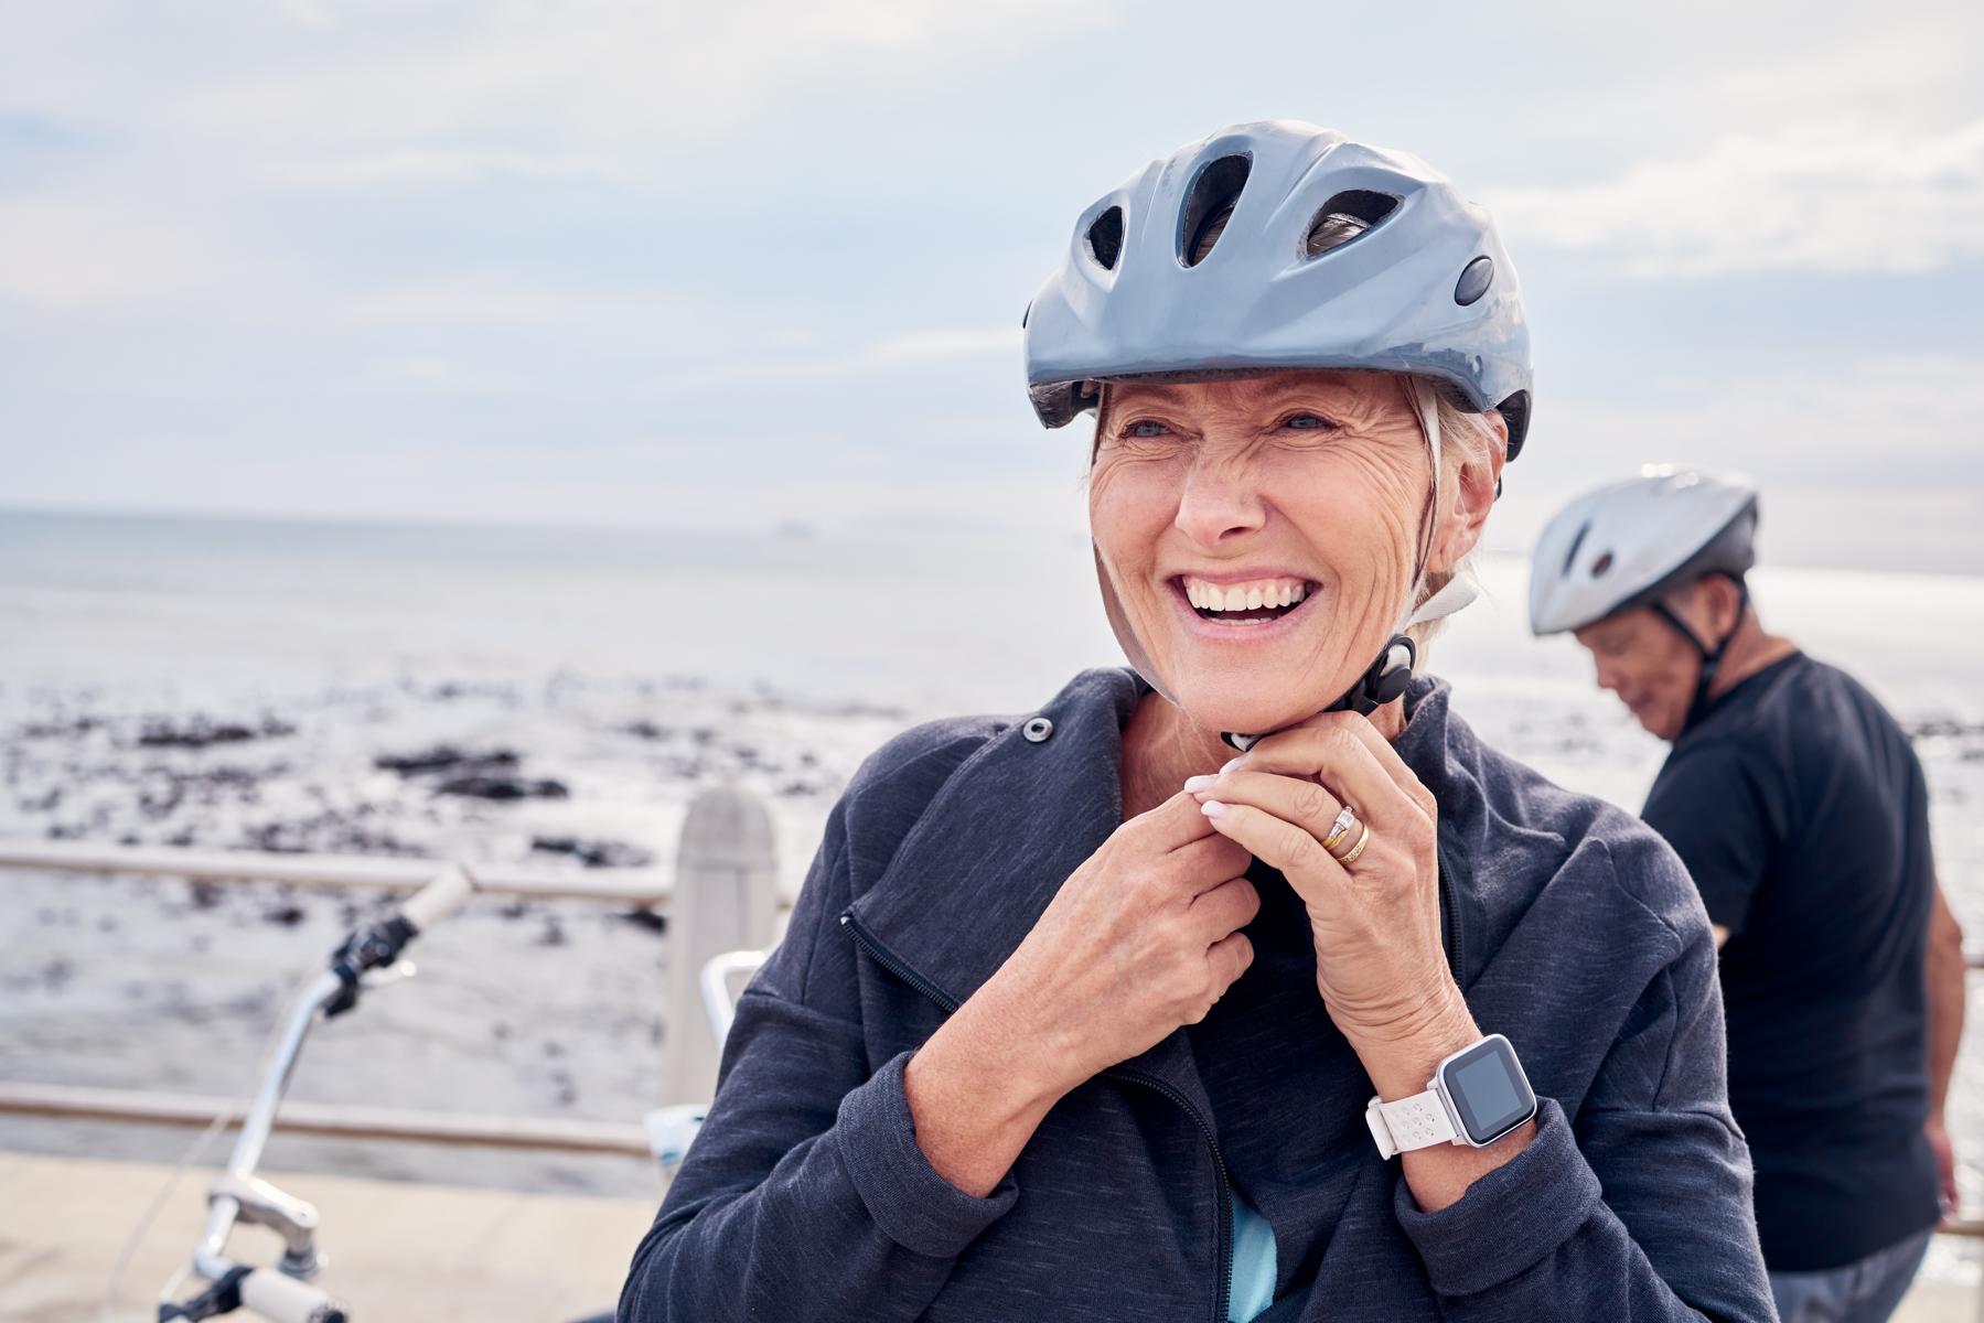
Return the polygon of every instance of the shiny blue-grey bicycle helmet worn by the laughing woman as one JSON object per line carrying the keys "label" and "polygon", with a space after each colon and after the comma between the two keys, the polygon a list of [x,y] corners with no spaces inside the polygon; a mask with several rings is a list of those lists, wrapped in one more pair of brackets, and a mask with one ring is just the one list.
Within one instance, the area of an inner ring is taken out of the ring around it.
{"label": "shiny blue-grey bicycle helmet worn by the laughing woman", "polygon": [[1276,367],[1413,373],[1530,430],[1530,329],[1488,212],[1419,157],[1315,125],[1234,125],[1153,161],[1075,222],[1028,305],[1034,409],[1093,381]]}

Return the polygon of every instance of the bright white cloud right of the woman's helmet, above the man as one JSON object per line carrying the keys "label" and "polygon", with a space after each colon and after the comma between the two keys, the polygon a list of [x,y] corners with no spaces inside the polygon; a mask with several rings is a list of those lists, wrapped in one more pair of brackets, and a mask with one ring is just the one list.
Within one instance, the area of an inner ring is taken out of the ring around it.
{"label": "bright white cloud right of the woman's helmet, above the man", "polygon": [[1641,276],[1924,272],[1984,256],[1984,119],[1907,135],[1798,125],[1589,184],[1488,194],[1524,242]]}

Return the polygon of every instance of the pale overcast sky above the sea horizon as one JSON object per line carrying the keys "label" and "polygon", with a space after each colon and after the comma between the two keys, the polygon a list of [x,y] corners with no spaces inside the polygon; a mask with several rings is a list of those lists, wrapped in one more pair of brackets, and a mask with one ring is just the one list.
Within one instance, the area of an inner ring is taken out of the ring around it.
{"label": "pale overcast sky above the sea horizon", "polygon": [[1488,202],[1524,547],[1643,460],[1984,571],[1984,8],[0,0],[0,504],[1071,534],[1020,309],[1296,117]]}

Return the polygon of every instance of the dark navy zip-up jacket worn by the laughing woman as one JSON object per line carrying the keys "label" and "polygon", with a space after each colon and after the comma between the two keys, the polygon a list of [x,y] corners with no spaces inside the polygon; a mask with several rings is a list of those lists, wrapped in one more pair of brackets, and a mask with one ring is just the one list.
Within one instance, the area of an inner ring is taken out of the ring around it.
{"label": "dark navy zip-up jacket worn by the laughing woman", "polygon": [[[619,1323],[1216,1323],[1234,1182],[1276,1234],[1270,1323],[1776,1317],[1686,871],[1639,819],[1482,746],[1438,680],[1415,682],[1395,748],[1440,805],[1456,980],[1538,1093],[1528,1148],[1421,1212],[1365,1129],[1313,948],[1302,968],[1270,946],[1204,1023],[1063,1097],[986,1198],[936,1174],[903,1065],[1121,823],[1147,692],[1099,666],[1040,710],[1044,740],[950,718],[863,762],[738,1002]],[[1244,988],[1256,1010],[1206,1039]]]}

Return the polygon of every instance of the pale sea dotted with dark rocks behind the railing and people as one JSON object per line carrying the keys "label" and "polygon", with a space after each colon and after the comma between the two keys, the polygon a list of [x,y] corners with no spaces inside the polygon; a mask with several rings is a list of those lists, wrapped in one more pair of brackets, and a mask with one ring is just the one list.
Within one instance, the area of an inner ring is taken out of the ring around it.
{"label": "pale sea dotted with dark rocks behind the railing and people", "polygon": [[[1524,627],[1524,565],[1436,641],[1476,730],[1635,807],[1665,746]],[[1984,579],[1766,567],[1768,625],[1917,732],[1940,875],[1984,942]],[[845,778],[929,716],[1028,712],[1121,664],[1083,538],[679,536],[0,512],[0,835],[667,863],[712,780],[766,795],[798,887]],[[234,726],[236,738],[200,744]],[[559,799],[377,766],[508,754]],[[552,843],[552,845],[546,845]],[[0,1077],[228,1093],[351,901],[0,873]],[[659,1097],[667,938],[587,904],[470,906],[421,978],[327,1025],[296,1097],[633,1121]],[[1972,1018],[1978,1000],[1972,998]],[[694,1023],[694,1020],[690,1022]],[[1984,1200],[1984,1031],[1952,1121]],[[171,1156],[183,1133],[0,1121],[0,1146]],[[641,1162],[282,1139],[272,1166],[651,1192]],[[1954,1258],[1938,1250],[1944,1269]],[[1946,1262],[1944,1262],[1946,1260]]]}

